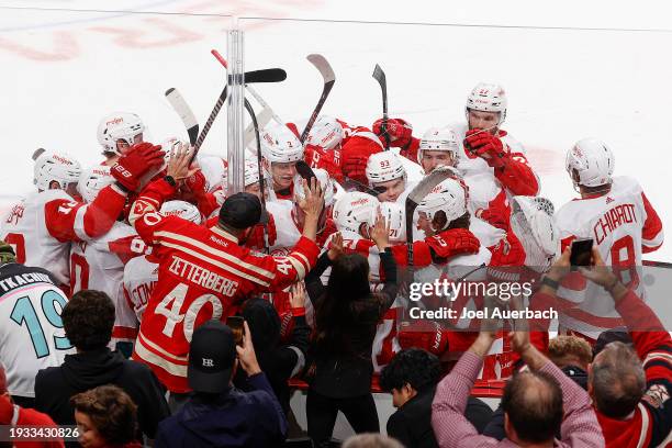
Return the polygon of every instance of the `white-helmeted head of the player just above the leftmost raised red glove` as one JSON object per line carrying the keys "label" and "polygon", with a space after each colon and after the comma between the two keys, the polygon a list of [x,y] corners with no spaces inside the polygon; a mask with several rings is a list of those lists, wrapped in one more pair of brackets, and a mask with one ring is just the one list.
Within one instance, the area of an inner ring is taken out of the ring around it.
{"label": "white-helmeted head of the player just above the leftmost raised red glove", "polygon": [[98,143],[103,148],[105,161],[113,166],[133,145],[144,142],[145,124],[134,113],[113,112],[98,124]]}

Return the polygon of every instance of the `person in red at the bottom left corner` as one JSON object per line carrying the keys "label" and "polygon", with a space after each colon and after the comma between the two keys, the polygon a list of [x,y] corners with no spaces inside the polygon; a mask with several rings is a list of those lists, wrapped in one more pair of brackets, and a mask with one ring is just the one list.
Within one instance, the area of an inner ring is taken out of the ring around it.
{"label": "person in red at the bottom left corner", "polygon": [[[7,377],[4,368],[0,366],[0,425],[12,426],[42,426],[56,428],[54,421],[46,414],[31,408],[23,408],[12,402],[7,390]],[[0,440],[0,447],[4,447],[4,443]],[[8,444],[12,447],[12,444]],[[63,448],[63,439],[45,440],[45,441],[22,441],[22,448]]]}

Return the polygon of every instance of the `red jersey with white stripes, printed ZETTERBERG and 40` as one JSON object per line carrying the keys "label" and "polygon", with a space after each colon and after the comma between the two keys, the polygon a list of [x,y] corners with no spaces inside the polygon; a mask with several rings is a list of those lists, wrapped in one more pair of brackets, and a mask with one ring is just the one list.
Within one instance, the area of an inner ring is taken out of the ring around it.
{"label": "red jersey with white stripes, printed ZETTERBERG and 40", "polygon": [[157,206],[160,201],[141,197],[131,215],[159,259],[159,281],[145,309],[133,358],[147,363],[170,391],[183,393],[190,390],[187,356],[194,328],[225,320],[254,294],[302,280],[318,249],[302,237],[285,257],[256,254],[217,226],[164,216],[155,212]]}

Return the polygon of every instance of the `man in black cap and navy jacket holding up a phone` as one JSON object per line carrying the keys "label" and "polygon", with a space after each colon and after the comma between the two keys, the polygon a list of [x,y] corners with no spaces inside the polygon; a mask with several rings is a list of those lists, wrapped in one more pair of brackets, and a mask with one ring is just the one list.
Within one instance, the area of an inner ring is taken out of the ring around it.
{"label": "man in black cap and navy jacket holding up a phone", "polygon": [[[238,366],[251,392],[232,385]],[[199,326],[189,349],[187,379],[193,393],[177,414],[160,423],[156,447],[277,447],[284,441],[287,418],[259,368],[247,322],[238,347],[222,322]]]}

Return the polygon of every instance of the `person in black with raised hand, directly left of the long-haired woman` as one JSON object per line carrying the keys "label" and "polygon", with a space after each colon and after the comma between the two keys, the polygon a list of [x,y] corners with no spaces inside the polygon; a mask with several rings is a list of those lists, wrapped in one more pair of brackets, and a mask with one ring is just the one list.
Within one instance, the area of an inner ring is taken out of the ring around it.
{"label": "person in black with raised hand, directly left of the long-haired woman", "polygon": [[[291,340],[280,345],[280,316],[273,305],[264,299],[251,299],[243,306],[243,317],[250,328],[253,344],[261,371],[266,373],[285,415],[290,408],[288,380],[303,370],[311,328],[305,322],[305,289],[295,283],[290,293],[293,315]],[[235,384],[247,390],[247,378],[238,370]]]}

